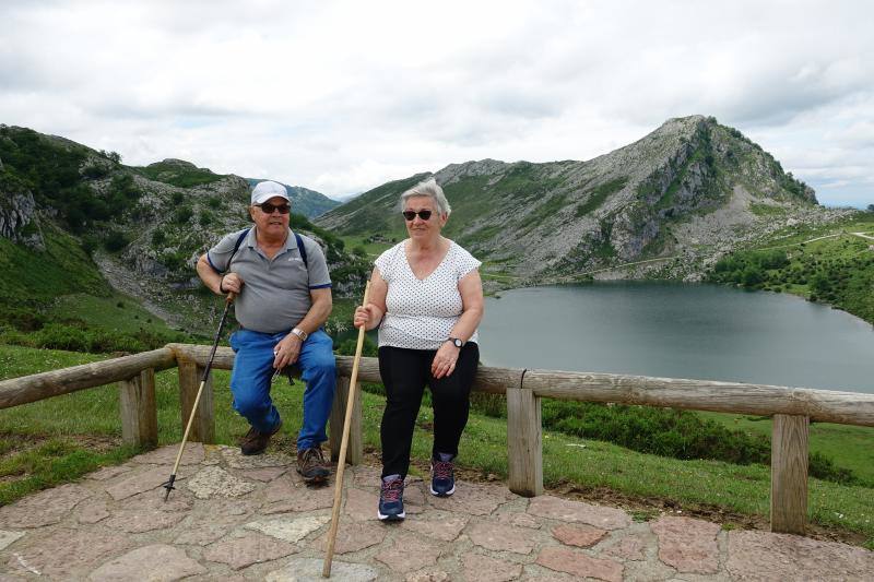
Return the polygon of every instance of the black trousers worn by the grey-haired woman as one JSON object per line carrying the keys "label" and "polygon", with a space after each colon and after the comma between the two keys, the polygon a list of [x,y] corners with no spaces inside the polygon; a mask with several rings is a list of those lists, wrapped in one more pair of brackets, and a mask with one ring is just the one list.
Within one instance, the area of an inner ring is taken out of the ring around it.
{"label": "black trousers worn by the grey-haired woman", "polygon": [[465,344],[456,369],[450,376],[439,379],[430,373],[430,364],[436,354],[436,351],[429,349],[379,348],[379,375],[386,387],[386,411],[380,427],[383,477],[406,477],[413,428],[426,384],[430,388],[434,405],[432,456],[437,453],[458,454],[461,432],[468,424],[471,385],[480,364],[480,347],[474,343]]}

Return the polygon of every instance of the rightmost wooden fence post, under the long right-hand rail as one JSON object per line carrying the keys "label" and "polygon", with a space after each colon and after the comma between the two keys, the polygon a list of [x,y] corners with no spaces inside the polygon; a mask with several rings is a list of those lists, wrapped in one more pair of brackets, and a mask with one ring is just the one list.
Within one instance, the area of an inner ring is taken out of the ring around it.
{"label": "rightmost wooden fence post, under the long right-hand rail", "polygon": [[804,534],[807,521],[810,417],[775,414],[771,438],[771,532]]}

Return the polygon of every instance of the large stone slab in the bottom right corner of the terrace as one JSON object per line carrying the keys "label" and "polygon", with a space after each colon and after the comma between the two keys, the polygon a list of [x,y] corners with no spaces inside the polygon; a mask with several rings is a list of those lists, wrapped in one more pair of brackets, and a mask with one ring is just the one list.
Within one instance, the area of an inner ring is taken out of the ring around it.
{"label": "large stone slab in the bottom right corner of the terrace", "polygon": [[729,532],[725,569],[737,580],[874,580],[874,551],[790,534]]}

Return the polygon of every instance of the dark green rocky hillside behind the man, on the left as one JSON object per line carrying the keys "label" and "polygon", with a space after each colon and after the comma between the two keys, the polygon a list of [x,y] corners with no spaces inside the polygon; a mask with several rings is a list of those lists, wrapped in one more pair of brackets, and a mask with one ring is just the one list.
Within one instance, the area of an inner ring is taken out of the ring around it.
{"label": "dark green rocky hillside behind the man, on the left", "polygon": [[[0,234],[26,247],[34,262],[57,260],[45,250],[46,236],[56,237],[51,249],[62,236],[90,253],[116,288],[172,323],[214,310],[194,264],[224,234],[251,224],[245,178],[179,159],[126,166],[116,153],[9,126],[0,126]],[[293,214],[292,227],[322,245],[338,295],[357,292],[366,274],[361,258],[305,216]],[[189,320],[197,329],[212,325],[210,318]]]}

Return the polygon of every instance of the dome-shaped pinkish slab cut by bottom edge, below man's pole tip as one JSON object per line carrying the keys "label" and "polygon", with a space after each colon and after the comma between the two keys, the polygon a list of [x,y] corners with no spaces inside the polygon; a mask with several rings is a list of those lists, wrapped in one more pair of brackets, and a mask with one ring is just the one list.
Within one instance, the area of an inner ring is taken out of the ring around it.
{"label": "dome-shaped pinkish slab cut by bottom edge, below man's pole tip", "polygon": [[107,561],[94,570],[88,580],[173,582],[205,572],[206,569],[189,558],[185,550],[165,544],[154,544]]}

